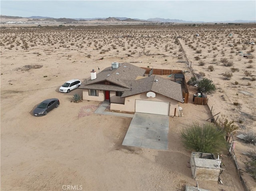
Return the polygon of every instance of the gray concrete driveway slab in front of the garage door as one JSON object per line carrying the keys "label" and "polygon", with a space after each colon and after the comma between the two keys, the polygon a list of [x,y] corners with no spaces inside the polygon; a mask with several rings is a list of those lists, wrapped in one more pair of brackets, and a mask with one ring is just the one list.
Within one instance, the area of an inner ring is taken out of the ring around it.
{"label": "gray concrete driveway slab in front of the garage door", "polygon": [[169,116],[135,113],[122,145],[167,150]]}

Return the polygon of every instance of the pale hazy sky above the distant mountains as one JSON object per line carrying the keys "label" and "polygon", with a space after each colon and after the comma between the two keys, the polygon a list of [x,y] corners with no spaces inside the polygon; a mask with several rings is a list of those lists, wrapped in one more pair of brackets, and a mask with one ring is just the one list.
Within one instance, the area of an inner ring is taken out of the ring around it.
{"label": "pale hazy sky above the distant mountains", "polygon": [[186,21],[256,20],[256,0],[0,0],[1,15]]}

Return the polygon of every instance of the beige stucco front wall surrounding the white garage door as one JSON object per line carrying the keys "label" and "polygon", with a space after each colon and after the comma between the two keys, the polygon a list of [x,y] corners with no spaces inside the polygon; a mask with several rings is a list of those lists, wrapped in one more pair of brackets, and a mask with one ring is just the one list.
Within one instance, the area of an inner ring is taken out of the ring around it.
{"label": "beige stucco front wall surrounding the white garage door", "polygon": [[[169,116],[179,116],[178,113],[178,101],[167,98],[165,96],[156,94],[154,98],[148,98],[146,93],[140,95],[129,96],[125,98],[124,104],[110,104],[110,110],[122,110],[127,112],[135,112],[135,100],[150,100],[150,101],[162,101],[162,102],[170,102]],[[174,114],[176,108],[176,114]]]}

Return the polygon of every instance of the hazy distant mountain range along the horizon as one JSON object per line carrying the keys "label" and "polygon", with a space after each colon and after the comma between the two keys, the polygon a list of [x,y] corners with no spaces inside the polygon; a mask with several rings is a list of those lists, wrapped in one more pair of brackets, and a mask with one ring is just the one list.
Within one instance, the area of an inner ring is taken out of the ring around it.
{"label": "hazy distant mountain range along the horizon", "polygon": [[76,22],[76,21],[108,21],[108,22],[161,22],[161,23],[255,23],[254,21],[248,20],[234,20],[234,21],[212,21],[212,22],[204,22],[204,21],[184,21],[178,19],[164,19],[164,18],[149,18],[147,20],[141,20],[137,18],[127,18],[127,17],[108,17],[108,18],[52,18],[52,17],[42,17],[42,16],[31,16],[31,17],[17,17],[17,16],[4,16],[1,15],[1,18],[6,19],[22,19],[26,18],[28,21],[56,21],[56,22]]}

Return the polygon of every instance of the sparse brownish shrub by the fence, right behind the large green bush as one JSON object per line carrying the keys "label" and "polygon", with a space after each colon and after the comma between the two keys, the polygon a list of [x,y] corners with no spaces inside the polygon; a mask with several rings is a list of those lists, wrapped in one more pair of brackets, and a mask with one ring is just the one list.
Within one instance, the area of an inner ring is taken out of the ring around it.
{"label": "sparse brownish shrub by the fence, right behind the large green bush", "polygon": [[236,130],[238,130],[238,126],[234,124],[234,121],[228,121],[225,115],[221,115],[215,123],[218,126],[218,129],[226,133],[226,136],[230,133],[236,133]]}

